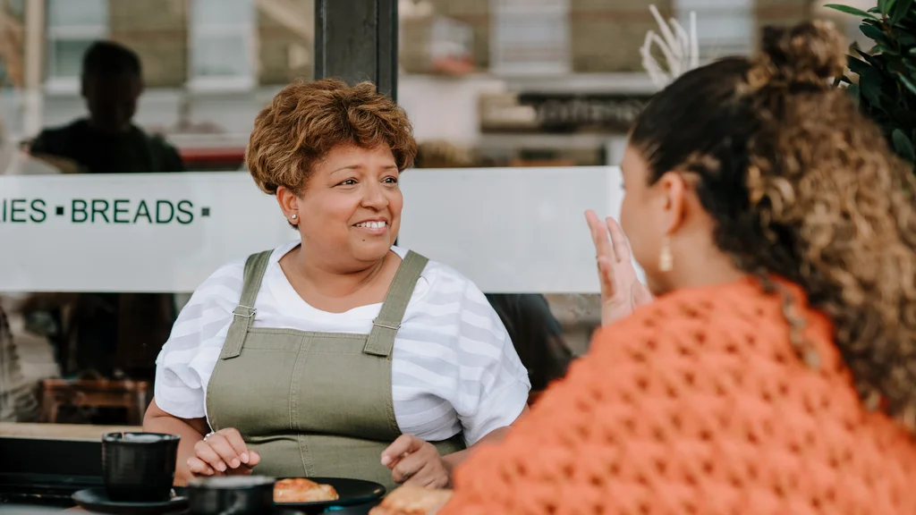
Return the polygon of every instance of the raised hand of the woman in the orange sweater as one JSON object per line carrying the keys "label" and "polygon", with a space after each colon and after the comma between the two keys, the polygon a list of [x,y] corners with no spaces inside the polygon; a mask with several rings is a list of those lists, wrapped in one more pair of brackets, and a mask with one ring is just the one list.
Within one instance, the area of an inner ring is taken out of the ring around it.
{"label": "raised hand of the woman in the orange sweater", "polygon": [[627,236],[620,225],[610,216],[602,223],[592,210],[585,212],[585,219],[592,230],[601,282],[601,324],[607,325],[624,318],[638,306],[651,302],[652,294],[645,284],[639,282]]}

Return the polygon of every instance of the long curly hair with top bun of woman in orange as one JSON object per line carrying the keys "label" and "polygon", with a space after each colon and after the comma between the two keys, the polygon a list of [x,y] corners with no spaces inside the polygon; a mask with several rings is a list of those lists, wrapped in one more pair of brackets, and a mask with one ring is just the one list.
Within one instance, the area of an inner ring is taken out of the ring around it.
{"label": "long curly hair with top bun of woman in orange", "polygon": [[830,85],[844,66],[843,38],[825,22],[766,29],[755,59],[672,82],[630,142],[650,181],[678,170],[696,182],[716,245],[738,268],[770,291],[771,275],[802,286],[834,323],[862,399],[913,429],[916,181],[878,126]]}

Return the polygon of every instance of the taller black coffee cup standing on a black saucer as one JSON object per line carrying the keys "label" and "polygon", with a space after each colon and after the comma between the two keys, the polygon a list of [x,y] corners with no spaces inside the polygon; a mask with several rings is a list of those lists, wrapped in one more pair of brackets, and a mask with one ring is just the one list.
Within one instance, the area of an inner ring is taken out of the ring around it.
{"label": "taller black coffee cup standing on a black saucer", "polygon": [[178,458],[176,434],[107,433],[102,437],[102,469],[108,499],[165,502],[171,497]]}

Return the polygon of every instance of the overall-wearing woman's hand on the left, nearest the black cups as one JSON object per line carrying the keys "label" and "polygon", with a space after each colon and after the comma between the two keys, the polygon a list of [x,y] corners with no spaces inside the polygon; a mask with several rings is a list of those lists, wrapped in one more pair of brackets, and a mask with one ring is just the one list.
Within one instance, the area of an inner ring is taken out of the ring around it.
{"label": "overall-wearing woman's hand on the left, nearest the black cups", "polygon": [[226,428],[194,444],[188,469],[194,476],[247,476],[260,461],[261,456],[248,449],[238,431]]}

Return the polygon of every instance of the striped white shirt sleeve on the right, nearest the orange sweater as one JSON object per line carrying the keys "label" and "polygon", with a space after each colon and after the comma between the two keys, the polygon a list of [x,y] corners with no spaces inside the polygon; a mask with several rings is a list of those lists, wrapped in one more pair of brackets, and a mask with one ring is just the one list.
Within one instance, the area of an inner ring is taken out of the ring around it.
{"label": "striped white shirt sleeve on the right, nearest the orange sweater", "polygon": [[473,445],[507,427],[528,403],[528,371],[484,293],[466,282],[458,327],[458,399],[453,406]]}

